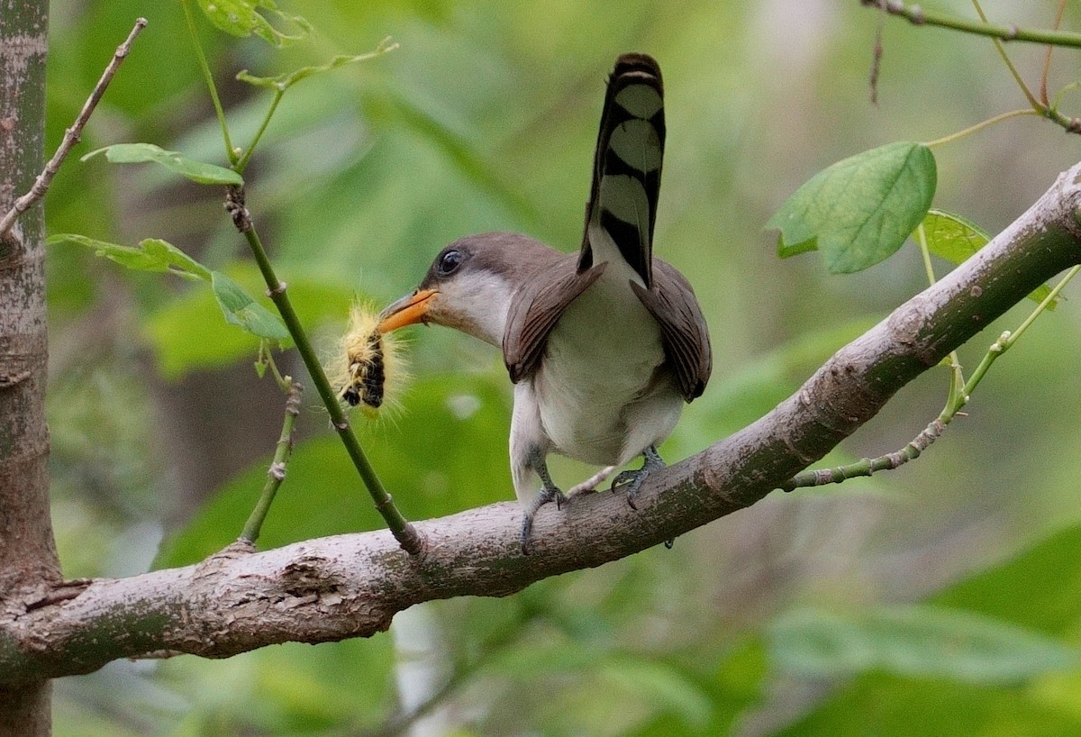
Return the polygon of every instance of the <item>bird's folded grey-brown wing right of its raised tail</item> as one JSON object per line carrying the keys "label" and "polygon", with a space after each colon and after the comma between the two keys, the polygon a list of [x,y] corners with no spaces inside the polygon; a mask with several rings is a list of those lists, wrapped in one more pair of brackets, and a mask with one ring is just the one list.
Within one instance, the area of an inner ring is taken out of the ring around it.
{"label": "bird's folded grey-brown wing right of its raised tail", "polygon": [[709,329],[690,282],[670,264],[653,259],[653,289],[630,287],[660,325],[665,358],[688,402],[702,396],[713,367]]}

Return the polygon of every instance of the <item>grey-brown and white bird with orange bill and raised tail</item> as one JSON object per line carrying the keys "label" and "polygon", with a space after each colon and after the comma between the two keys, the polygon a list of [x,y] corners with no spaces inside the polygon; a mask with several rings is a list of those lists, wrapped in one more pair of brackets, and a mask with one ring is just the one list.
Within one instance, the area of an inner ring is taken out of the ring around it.
{"label": "grey-brown and white bird with orange bill and raised tail", "polygon": [[[620,55],[578,252],[521,233],[467,236],[381,313],[381,332],[433,323],[502,349],[515,385],[510,470],[526,554],[544,505],[593,491],[641,455],[640,468],[611,482],[637,509],[642,483],[665,467],[657,445],[709,380],[709,330],[694,290],[653,256],[665,130],[659,65]],[[603,468],[564,494],[548,472],[551,453]]]}

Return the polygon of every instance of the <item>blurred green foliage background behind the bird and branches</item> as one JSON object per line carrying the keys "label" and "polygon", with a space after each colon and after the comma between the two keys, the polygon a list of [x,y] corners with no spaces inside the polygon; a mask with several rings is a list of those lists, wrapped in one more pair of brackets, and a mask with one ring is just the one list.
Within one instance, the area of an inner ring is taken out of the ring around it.
{"label": "blurred green foliage background behind the bird and branches", "polygon": [[[1067,4],[1064,27],[1081,28]],[[974,14],[960,0],[934,5]],[[987,39],[883,18],[856,0],[282,6],[316,28],[284,51],[198,19],[241,145],[269,96],[235,81],[240,69],[321,64],[386,36],[400,44],[290,90],[248,172],[249,206],[328,354],[353,299],[403,294],[454,238],[515,229],[576,247],[608,71],[625,51],[659,59],[668,142],[656,253],[694,283],[715,350],[709,389],[662,448],[669,461],[770,410],[925,285],[911,243],[846,277],[827,274],[816,254],[779,260],[762,226],[785,198],[846,156],[1025,105]],[[984,6],[1047,26],[1058,2]],[[224,163],[177,3],[53,3],[50,140],[138,15],[149,26],[77,151],[149,142]],[[1007,50],[1037,85],[1043,50]],[[1077,52],[1057,51],[1052,90],[1078,68]],[[1081,100],[1068,93],[1064,106],[1077,115]],[[1079,143],[1018,118],[937,147],[935,204],[997,232],[1078,161]],[[51,233],[164,238],[262,293],[214,188],[72,159],[46,214]],[[65,574],[198,561],[239,534],[278,437],[283,400],[255,376],[256,344],[200,285],[125,272],[75,245],[51,246],[48,258]],[[973,340],[964,365],[1031,308]],[[371,640],[112,664],[57,683],[56,734],[1078,734],[1079,337],[1076,299],[1042,317],[969,416],[898,471],[777,493],[671,550],[515,597],[424,604]],[[409,353],[400,408],[357,420],[402,511],[424,519],[511,498],[499,356],[419,327]],[[279,361],[306,381],[291,352]],[[829,460],[903,446],[937,415],[947,378],[931,371],[904,389]],[[379,526],[328,430],[309,390],[262,545]],[[585,470],[553,468],[564,484]]]}

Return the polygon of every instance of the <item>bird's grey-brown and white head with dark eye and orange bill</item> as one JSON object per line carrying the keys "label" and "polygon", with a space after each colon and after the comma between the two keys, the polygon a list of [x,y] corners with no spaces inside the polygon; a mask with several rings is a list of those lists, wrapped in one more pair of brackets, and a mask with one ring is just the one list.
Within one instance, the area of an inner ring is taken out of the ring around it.
{"label": "bird's grey-brown and white head with dark eye and orange bill", "polygon": [[418,322],[454,327],[493,346],[515,290],[560,254],[526,236],[490,232],[454,241],[436,256],[421,284],[381,313],[387,333]]}

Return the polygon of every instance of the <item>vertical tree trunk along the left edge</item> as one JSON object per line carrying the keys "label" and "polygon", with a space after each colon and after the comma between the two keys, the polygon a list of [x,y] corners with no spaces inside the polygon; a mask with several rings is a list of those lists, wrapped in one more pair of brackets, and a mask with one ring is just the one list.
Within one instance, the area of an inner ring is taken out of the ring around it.
{"label": "vertical tree trunk along the left edge", "polygon": [[[42,165],[46,0],[0,0],[0,213]],[[0,234],[0,607],[59,581],[49,514],[40,203]],[[0,737],[50,733],[48,681],[0,689]]]}

